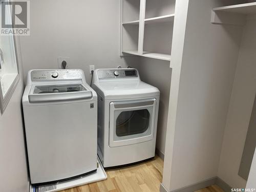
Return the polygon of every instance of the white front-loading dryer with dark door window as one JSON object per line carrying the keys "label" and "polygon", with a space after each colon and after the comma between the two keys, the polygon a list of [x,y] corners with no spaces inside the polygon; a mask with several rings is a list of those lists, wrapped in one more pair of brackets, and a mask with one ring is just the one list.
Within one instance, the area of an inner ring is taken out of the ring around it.
{"label": "white front-loading dryer with dark door window", "polygon": [[136,69],[97,69],[98,156],[104,167],[155,156],[160,92]]}

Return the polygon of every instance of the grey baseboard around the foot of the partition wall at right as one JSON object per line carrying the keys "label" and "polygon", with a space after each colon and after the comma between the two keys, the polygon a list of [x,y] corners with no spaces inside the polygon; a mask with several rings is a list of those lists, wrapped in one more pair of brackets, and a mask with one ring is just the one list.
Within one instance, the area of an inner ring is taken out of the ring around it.
{"label": "grey baseboard around the foot of the partition wall at right", "polygon": [[160,184],[160,192],[191,192],[191,191],[196,191],[211,185],[215,185],[217,184],[220,188],[222,188],[225,192],[230,192],[231,188],[226,182],[224,182],[222,179],[220,179],[219,177],[213,177],[192,185],[188,185],[185,187],[182,187],[180,189],[176,189],[176,190],[172,190],[172,191],[168,191],[163,184]]}

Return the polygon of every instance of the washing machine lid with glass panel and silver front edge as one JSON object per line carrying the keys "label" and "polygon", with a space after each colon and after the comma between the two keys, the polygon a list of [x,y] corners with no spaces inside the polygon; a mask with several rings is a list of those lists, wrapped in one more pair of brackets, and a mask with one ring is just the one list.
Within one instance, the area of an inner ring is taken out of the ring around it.
{"label": "washing machine lid with glass panel and silver front edge", "polygon": [[57,84],[33,86],[29,94],[29,102],[70,101],[92,98],[92,92],[82,84]]}

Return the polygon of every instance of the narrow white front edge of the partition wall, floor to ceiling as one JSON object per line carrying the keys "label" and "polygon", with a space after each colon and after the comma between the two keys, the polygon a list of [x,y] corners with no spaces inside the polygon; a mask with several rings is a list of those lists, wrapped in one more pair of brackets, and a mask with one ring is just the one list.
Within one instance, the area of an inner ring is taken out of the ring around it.
{"label": "narrow white front edge of the partition wall, floor to ceiling", "polygon": [[[177,1],[175,4],[174,31],[172,42],[172,82],[170,83],[170,97],[167,116],[167,127],[165,137],[165,154],[162,186],[170,191],[170,179],[172,173],[175,125],[177,115],[177,102],[179,93],[180,72],[182,65],[182,55],[185,40],[185,29],[187,21],[187,10],[189,0]],[[161,189],[161,188],[160,188]]]}

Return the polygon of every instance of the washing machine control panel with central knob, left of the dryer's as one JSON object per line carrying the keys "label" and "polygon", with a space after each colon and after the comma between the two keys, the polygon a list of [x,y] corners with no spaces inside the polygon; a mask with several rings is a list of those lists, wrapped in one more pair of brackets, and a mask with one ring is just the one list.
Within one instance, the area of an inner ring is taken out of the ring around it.
{"label": "washing machine control panel with central knob, left of the dryer's", "polygon": [[79,70],[35,70],[31,72],[32,81],[53,79],[82,79],[82,74]]}

